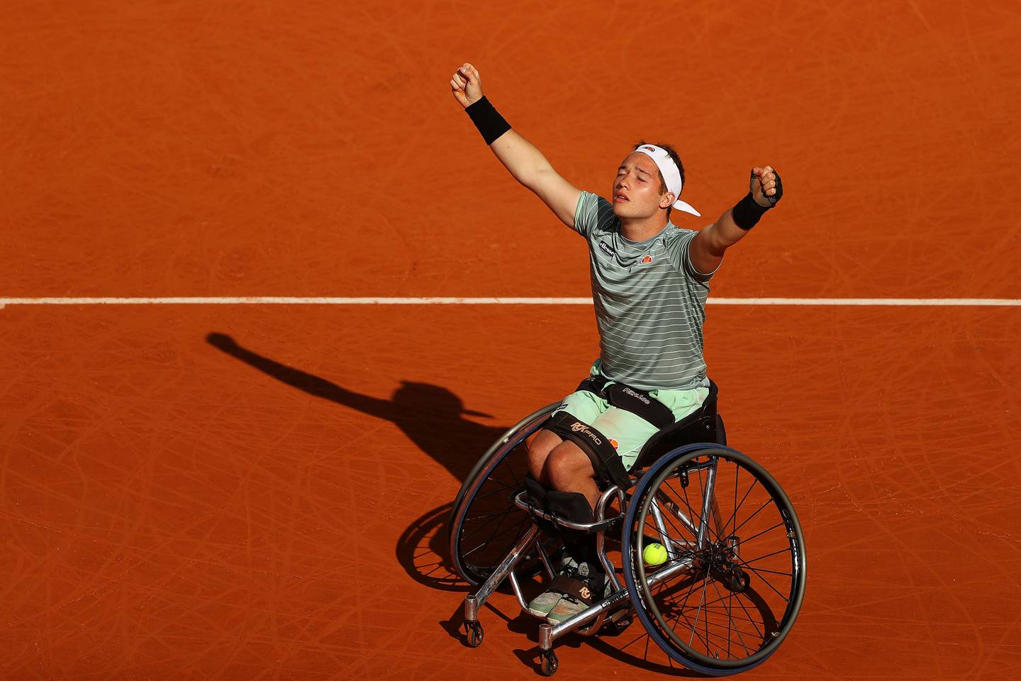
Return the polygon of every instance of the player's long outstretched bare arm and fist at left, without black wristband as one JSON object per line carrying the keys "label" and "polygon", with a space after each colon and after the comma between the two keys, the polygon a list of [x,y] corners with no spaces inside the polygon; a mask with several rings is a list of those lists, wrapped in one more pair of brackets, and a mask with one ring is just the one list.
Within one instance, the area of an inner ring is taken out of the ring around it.
{"label": "player's long outstretched bare arm and fist at left, without black wristband", "polygon": [[[482,99],[482,80],[472,64],[466,63],[450,79],[454,98],[466,109]],[[497,114],[498,115],[498,114]],[[542,152],[514,130],[507,130],[490,143],[496,157],[514,179],[535,193],[562,223],[574,228],[575,208],[581,190],[573,187],[553,169]]]}

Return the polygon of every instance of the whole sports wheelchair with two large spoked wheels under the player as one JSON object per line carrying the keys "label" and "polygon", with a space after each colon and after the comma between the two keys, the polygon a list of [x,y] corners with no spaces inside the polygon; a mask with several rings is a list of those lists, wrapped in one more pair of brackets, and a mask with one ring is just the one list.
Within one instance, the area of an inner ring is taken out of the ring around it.
{"label": "whole sports wheelchair with two large spoked wheels under the player", "polygon": [[[711,384],[702,405],[641,449],[629,484],[600,483],[594,522],[550,513],[526,490],[527,440],[560,402],[525,417],[483,454],[455,497],[450,556],[477,590],[465,598],[466,642],[482,643],[479,610],[509,582],[528,613],[526,588],[555,575],[563,540],[545,528],[595,534],[609,595],[557,625],[539,626],[539,670],[558,666],[553,641],[576,632],[623,631],[637,616],[675,662],[713,676],[747,671],[790,632],[806,585],[805,539],[794,508],[772,476],[726,446]],[[619,537],[619,544],[616,539]],[[645,546],[658,543],[666,548]],[[620,569],[612,557],[619,547]],[[623,580],[623,584],[622,584]]]}

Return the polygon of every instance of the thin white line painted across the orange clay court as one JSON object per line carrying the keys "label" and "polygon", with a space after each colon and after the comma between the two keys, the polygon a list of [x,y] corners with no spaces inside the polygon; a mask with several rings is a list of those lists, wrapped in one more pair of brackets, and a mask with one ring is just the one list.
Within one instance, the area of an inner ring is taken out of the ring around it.
{"label": "thin white line painted across the orange clay court", "polygon": [[[715,305],[1019,307],[1021,298],[713,298]],[[591,305],[591,298],[339,298],[298,296],[169,298],[0,298],[4,305]]]}

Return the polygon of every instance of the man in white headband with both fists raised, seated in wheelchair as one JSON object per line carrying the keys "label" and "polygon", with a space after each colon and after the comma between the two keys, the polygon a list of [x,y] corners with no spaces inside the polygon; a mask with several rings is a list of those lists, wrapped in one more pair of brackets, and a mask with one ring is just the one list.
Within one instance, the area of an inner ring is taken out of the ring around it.
{"label": "man in white headband with both fists raised, seated in wheelchair", "polygon": [[[627,470],[660,429],[698,408],[709,394],[702,323],[709,281],[724,252],[780,199],[769,165],[751,169],[748,194],[699,231],[670,223],[684,167],[668,145],[640,142],[621,162],[612,201],[583,192],[512,130],[483,97],[479,71],[464,64],[450,80],[496,157],[568,227],[588,241],[599,358],[549,426],[529,443],[530,493],[576,523],[592,522],[599,483],[626,486]],[[551,490],[547,488],[551,487]],[[588,607],[607,586],[591,535],[566,537],[563,574],[529,603],[557,624]]]}

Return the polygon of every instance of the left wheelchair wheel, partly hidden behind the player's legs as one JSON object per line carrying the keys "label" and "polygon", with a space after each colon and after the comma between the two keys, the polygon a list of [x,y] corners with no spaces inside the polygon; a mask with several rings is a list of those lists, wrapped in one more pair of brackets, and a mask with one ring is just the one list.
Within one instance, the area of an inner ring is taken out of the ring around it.
{"label": "left wheelchair wheel, partly hidden behind the player's legs", "polygon": [[[450,558],[457,574],[473,586],[485,581],[531,526],[528,516],[514,504],[528,473],[525,441],[560,405],[548,404],[507,430],[468,474],[454,498],[448,525]],[[528,568],[523,565],[519,571]]]}

